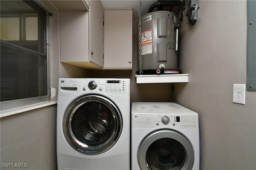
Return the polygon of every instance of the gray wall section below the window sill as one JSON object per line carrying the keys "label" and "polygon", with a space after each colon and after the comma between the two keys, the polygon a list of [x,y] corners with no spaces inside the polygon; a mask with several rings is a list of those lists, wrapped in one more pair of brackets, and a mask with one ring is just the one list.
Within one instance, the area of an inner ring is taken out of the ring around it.
{"label": "gray wall section below the window sill", "polygon": [[[56,170],[56,105],[1,118],[1,170]],[[5,168],[2,163],[27,163]]]}

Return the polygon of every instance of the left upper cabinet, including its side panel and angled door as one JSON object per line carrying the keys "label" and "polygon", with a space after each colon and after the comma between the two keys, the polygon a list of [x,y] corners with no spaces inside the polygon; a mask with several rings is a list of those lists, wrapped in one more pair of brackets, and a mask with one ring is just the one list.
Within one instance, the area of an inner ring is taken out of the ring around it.
{"label": "left upper cabinet, including its side panel and angled door", "polygon": [[89,9],[89,12],[60,10],[60,61],[82,68],[101,69],[103,9],[98,0],[90,1]]}

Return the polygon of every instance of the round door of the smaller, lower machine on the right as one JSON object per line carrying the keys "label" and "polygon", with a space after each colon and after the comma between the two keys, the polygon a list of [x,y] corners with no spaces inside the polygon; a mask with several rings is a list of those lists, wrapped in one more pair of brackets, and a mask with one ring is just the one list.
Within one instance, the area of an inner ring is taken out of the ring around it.
{"label": "round door of the smaller, lower machine on the right", "polygon": [[194,152],[183,135],[164,129],[151,133],[142,141],[138,162],[141,169],[188,170],[193,167]]}

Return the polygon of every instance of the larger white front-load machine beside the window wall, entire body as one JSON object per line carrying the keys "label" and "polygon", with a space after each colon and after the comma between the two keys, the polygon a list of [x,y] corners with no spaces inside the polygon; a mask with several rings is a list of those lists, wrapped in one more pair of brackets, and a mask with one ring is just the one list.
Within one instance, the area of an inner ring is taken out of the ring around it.
{"label": "larger white front-load machine beside the window wall, entire body", "polygon": [[130,169],[130,79],[60,78],[58,170]]}

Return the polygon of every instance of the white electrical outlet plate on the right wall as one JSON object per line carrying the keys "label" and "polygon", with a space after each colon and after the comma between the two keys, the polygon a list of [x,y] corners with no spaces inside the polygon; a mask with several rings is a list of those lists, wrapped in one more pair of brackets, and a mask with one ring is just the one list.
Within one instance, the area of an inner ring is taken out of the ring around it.
{"label": "white electrical outlet plate on the right wall", "polygon": [[245,104],[245,84],[233,84],[233,103]]}

